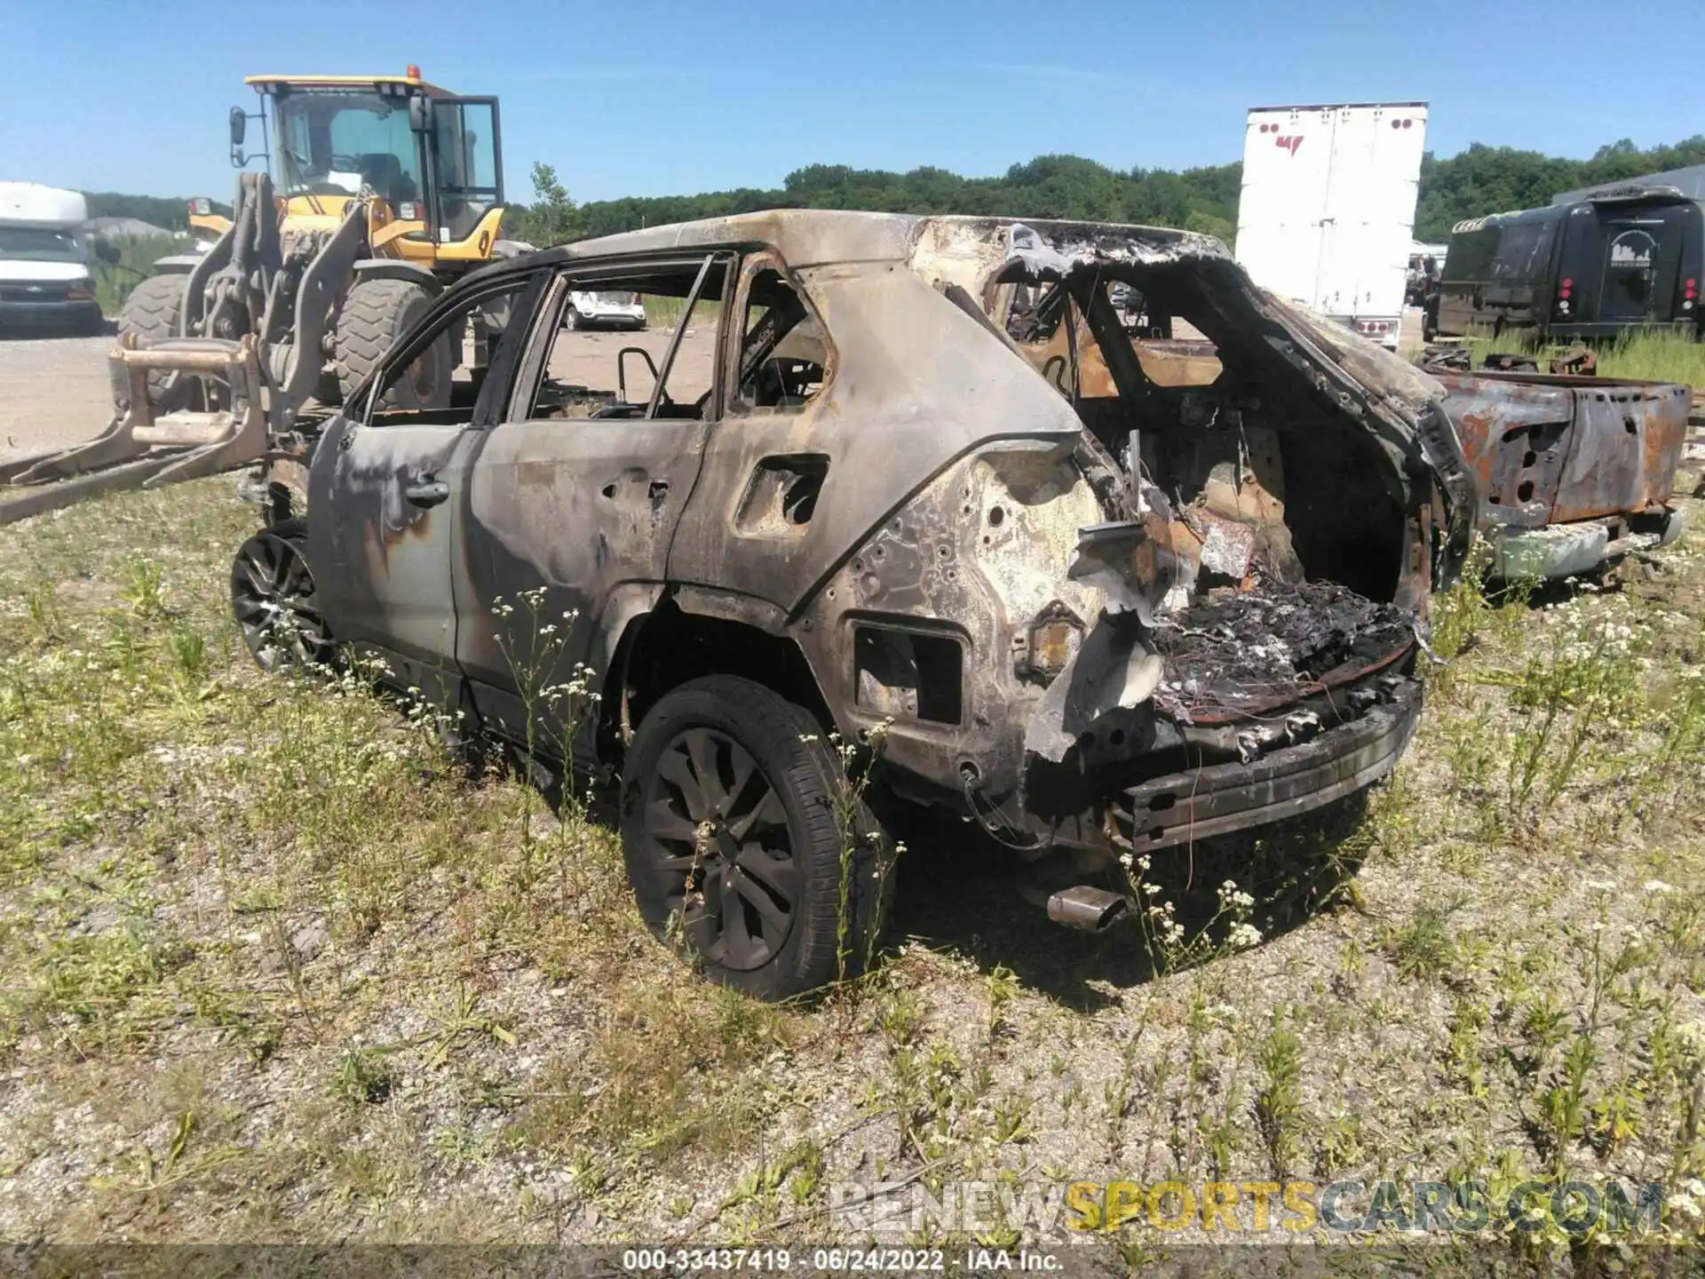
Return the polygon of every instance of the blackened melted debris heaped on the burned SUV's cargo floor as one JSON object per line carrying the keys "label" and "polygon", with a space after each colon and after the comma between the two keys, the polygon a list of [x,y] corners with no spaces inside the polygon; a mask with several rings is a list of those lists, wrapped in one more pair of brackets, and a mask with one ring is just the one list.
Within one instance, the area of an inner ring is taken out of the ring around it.
{"label": "blackened melted debris heaped on the burned SUV's cargo floor", "polygon": [[1265,582],[1216,590],[1159,619],[1151,643],[1166,660],[1161,713],[1190,721],[1306,696],[1342,665],[1373,665],[1413,643],[1408,614],[1333,582]]}

